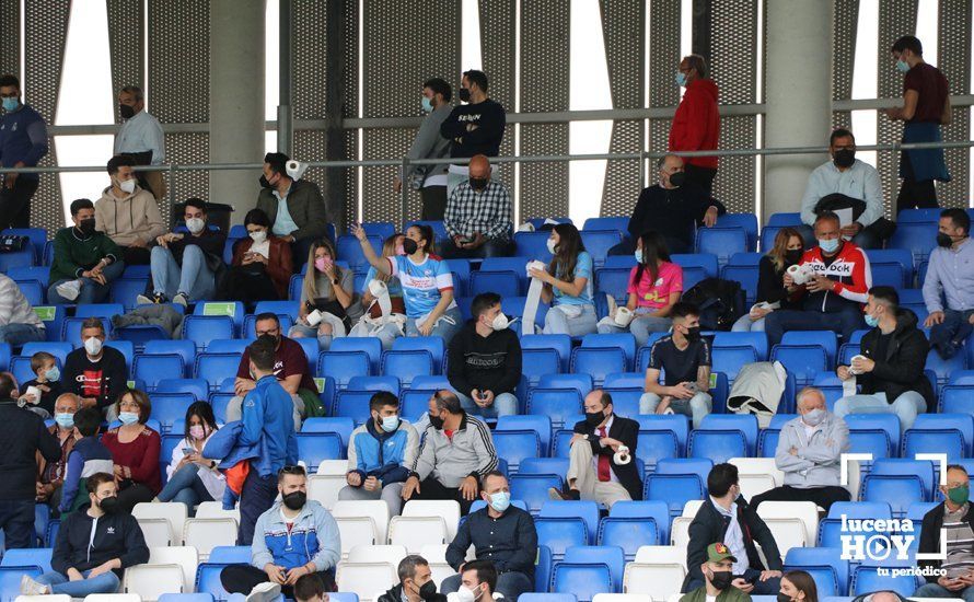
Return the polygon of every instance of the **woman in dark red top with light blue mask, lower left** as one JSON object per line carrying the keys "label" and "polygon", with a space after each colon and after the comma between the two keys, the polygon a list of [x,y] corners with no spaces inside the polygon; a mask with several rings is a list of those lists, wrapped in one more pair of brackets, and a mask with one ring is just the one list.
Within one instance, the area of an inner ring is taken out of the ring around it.
{"label": "woman in dark red top with light blue mask, lower left", "polygon": [[115,478],[118,481],[118,502],[125,512],[131,512],[136,503],[152,501],[159,494],[159,433],[146,426],[152,406],[149,395],[137,389],[127,389],[116,402],[118,420],[102,438],[102,444],[112,452]]}

